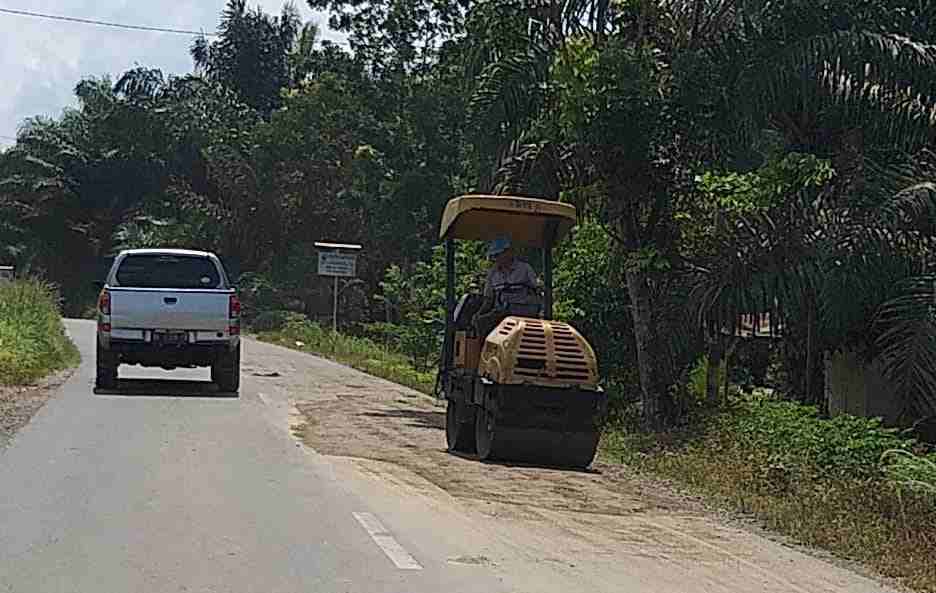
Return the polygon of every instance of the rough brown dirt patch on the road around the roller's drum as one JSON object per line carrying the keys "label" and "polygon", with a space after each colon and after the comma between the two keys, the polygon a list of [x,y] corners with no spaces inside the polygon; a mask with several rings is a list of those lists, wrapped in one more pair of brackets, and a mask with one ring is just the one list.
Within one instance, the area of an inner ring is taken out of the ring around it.
{"label": "rough brown dirt patch on the road around the roller's drum", "polygon": [[445,410],[434,400],[387,390],[349,395],[298,402],[303,420],[293,433],[324,455],[394,464],[463,501],[497,503],[500,512],[504,505],[601,515],[701,511],[621,466],[570,471],[453,455],[445,449]]}

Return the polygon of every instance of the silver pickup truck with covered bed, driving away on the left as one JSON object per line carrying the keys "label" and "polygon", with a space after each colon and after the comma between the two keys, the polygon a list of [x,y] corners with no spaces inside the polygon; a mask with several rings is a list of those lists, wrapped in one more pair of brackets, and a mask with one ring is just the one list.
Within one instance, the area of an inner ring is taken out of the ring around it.
{"label": "silver pickup truck with covered bed, driving away on the left", "polygon": [[98,298],[96,386],[116,388],[121,364],[166,370],[210,366],[219,391],[236,393],[240,308],[212,253],[122,251]]}

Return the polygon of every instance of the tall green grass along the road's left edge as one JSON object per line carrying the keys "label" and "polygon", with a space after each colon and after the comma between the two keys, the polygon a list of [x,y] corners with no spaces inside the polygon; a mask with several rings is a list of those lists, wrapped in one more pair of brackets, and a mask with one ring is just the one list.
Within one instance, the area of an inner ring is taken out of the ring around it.
{"label": "tall green grass along the road's left edge", "polygon": [[38,280],[0,284],[0,384],[30,383],[78,360],[51,286]]}

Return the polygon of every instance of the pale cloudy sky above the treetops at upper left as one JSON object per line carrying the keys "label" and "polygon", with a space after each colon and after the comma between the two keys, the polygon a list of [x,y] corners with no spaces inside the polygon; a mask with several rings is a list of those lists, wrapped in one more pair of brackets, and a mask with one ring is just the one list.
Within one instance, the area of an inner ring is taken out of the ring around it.
{"label": "pale cloudy sky above the treetops at upper left", "polygon": [[[248,0],[278,15],[285,0]],[[102,20],[121,24],[214,32],[226,0],[0,0],[0,8]],[[315,21],[322,37],[327,15],[296,0],[304,20]],[[74,88],[87,76],[116,79],[136,66],[165,74],[190,72],[192,38],[170,33],[129,31],[0,13],[0,149],[14,143],[27,117],[57,117],[75,105]]]}

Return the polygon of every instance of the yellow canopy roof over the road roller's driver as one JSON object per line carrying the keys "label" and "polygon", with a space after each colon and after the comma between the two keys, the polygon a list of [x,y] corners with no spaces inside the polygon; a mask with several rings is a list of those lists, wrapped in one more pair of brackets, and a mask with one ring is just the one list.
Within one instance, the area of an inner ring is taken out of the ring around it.
{"label": "yellow canopy roof over the road roller's driver", "polygon": [[575,207],[514,196],[461,196],[442,214],[441,239],[490,241],[508,236],[520,245],[555,244],[575,226]]}

